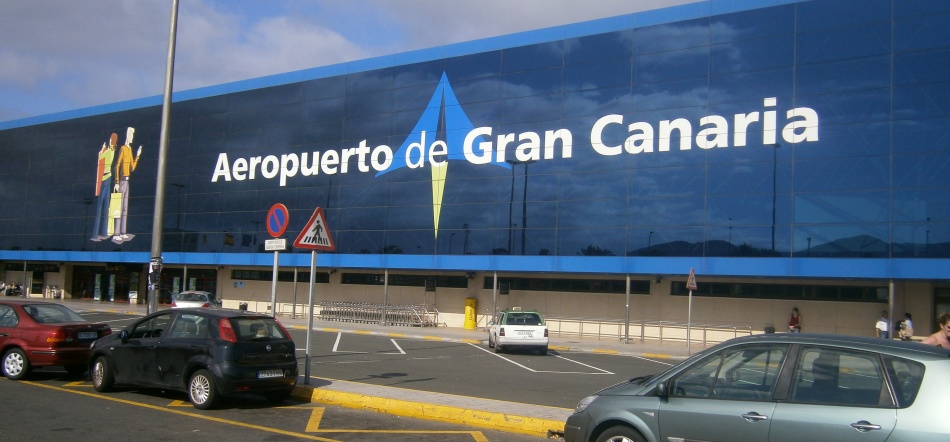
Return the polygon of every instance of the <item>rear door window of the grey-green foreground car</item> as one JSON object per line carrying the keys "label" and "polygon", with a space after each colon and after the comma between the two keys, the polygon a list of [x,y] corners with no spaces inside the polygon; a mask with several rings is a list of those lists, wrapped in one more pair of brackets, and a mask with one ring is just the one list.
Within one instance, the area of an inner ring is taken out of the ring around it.
{"label": "rear door window of the grey-green foreground car", "polygon": [[863,407],[891,406],[876,354],[806,347],[792,379],[792,402]]}

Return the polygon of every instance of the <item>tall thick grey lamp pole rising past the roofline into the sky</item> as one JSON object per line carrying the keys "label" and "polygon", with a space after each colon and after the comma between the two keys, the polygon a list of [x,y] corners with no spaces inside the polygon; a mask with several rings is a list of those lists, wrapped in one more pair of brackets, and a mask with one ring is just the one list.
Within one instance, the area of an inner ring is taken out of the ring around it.
{"label": "tall thick grey lamp pole rising past the roofline into the sky", "polygon": [[[158,142],[158,173],[155,179],[155,210],[152,216],[152,254],[149,263],[148,308],[158,310],[159,282],[162,269],[162,216],[165,207],[165,159],[168,157],[168,126],[171,120],[172,79],[175,72],[175,37],[178,29],[178,0],[172,0],[168,31],[168,57],[165,60],[165,96],[162,100],[162,126]],[[156,265],[157,264],[157,265]],[[153,276],[154,272],[154,276]]]}

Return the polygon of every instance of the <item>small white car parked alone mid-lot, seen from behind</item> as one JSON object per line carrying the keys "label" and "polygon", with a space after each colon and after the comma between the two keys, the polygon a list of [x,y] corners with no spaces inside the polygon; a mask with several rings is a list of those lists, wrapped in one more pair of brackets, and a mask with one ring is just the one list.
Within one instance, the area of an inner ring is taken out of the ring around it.
{"label": "small white car parked alone mid-lot, seen from behind", "polygon": [[548,354],[548,326],[535,310],[514,307],[498,312],[488,325],[488,348],[501,352],[512,348],[533,349]]}

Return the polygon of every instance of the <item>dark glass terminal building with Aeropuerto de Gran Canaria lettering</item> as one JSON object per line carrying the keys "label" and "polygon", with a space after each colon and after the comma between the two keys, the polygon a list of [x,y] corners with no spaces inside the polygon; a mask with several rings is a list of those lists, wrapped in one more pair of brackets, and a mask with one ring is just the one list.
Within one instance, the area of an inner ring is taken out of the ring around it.
{"label": "dark glass terminal building with Aeropuerto de Gran Canaria lettering", "polygon": [[[283,204],[291,243],[325,217],[319,301],[929,334],[947,60],[947,1],[705,0],[176,92],[160,286],[268,308]],[[0,279],[144,294],[160,123],[161,97],[0,122]],[[278,302],[311,256],[280,253]]]}

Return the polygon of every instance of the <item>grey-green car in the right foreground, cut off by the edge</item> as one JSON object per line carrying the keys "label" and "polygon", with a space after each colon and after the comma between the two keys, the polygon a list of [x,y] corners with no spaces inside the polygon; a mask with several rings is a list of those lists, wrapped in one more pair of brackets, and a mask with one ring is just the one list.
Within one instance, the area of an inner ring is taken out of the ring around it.
{"label": "grey-green car in the right foreground, cut off by the edge", "polygon": [[581,400],[575,441],[945,441],[950,350],[894,340],[764,334]]}

